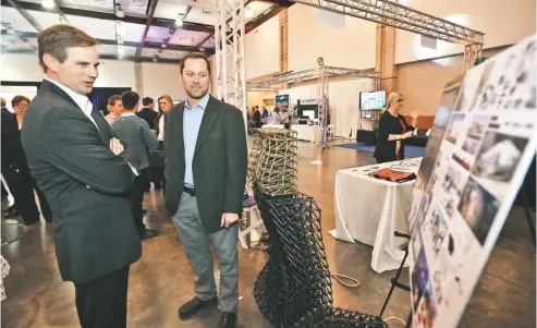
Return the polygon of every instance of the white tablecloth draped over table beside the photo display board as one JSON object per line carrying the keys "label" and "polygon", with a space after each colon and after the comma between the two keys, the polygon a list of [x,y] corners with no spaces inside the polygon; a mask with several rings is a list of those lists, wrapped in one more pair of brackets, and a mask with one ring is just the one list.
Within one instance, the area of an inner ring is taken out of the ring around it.
{"label": "white tablecloth draped over table beside the photo display board", "polygon": [[398,184],[367,174],[390,167],[417,173],[420,161],[415,158],[335,173],[335,236],[373,245],[371,268],[379,274],[398,268],[403,259],[399,245],[404,240],[393,232],[408,231],[406,215],[414,181]]}

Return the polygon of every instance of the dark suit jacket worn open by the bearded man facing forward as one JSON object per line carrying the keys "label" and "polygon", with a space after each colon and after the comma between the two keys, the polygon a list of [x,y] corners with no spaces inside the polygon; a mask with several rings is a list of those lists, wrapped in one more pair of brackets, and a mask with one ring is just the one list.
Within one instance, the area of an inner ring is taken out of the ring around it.
{"label": "dark suit jacket worn open by the bearded man facing forward", "polygon": [[[164,130],[166,207],[178,211],[183,193],[185,162],[183,138],[184,102],[168,113]],[[199,216],[207,233],[221,229],[223,212],[241,214],[246,183],[247,145],[239,109],[213,97],[205,109],[193,159]]]}

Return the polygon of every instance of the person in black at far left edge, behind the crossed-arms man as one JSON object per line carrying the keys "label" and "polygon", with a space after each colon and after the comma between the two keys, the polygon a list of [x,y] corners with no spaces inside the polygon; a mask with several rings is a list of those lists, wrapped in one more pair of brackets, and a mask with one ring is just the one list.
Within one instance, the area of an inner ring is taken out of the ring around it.
{"label": "person in black at far left edge, behind the crossed-arms man", "polygon": [[24,96],[15,96],[11,105],[15,116],[2,110],[2,175],[15,199],[15,207],[11,215],[21,214],[26,226],[39,222],[40,214],[36,204],[34,190],[37,193],[42,216],[49,223],[53,216],[49,203],[37,182],[32,177],[26,156],[21,144],[21,127],[28,107],[29,99]]}

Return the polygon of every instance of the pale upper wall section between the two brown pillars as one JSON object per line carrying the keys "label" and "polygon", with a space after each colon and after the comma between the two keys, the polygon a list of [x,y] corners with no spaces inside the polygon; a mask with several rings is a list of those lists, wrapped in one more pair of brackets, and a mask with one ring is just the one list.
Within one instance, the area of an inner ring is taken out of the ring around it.
{"label": "pale upper wall section between the two brown pillars", "polygon": [[375,68],[376,24],[339,14],[326,17],[318,11],[300,3],[289,8],[289,70],[316,68],[318,57],[329,66]]}

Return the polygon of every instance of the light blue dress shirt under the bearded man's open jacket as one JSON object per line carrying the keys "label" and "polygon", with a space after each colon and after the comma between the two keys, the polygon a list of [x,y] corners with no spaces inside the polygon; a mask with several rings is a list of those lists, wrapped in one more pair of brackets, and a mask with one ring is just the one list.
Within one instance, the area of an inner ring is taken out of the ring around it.
{"label": "light blue dress shirt under the bearded man's open jacket", "polygon": [[194,187],[194,174],[192,172],[192,160],[196,149],[197,135],[204,118],[205,109],[209,102],[209,94],[205,95],[199,102],[191,107],[188,100],[184,102],[183,113],[183,138],[184,138],[184,185]]}

